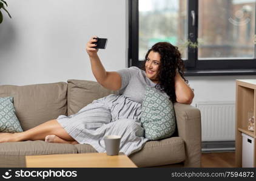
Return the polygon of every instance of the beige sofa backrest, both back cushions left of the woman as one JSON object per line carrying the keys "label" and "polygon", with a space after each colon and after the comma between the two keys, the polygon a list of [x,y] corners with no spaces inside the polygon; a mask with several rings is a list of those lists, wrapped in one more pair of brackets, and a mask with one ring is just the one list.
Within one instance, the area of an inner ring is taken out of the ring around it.
{"label": "beige sofa backrest, both back cushions left of the woman", "polygon": [[0,97],[14,97],[16,116],[24,131],[59,115],[73,115],[93,100],[117,93],[88,80],[0,86]]}

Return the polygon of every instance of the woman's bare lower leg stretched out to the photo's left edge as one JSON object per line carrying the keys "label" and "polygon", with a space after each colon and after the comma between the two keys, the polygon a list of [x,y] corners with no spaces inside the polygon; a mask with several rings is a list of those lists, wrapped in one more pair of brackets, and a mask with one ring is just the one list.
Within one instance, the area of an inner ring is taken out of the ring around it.
{"label": "woman's bare lower leg stretched out to the photo's left edge", "polygon": [[14,142],[25,140],[45,140],[47,135],[56,135],[66,141],[74,141],[74,139],[62,128],[56,119],[44,122],[32,129],[21,133],[0,133],[1,142]]}

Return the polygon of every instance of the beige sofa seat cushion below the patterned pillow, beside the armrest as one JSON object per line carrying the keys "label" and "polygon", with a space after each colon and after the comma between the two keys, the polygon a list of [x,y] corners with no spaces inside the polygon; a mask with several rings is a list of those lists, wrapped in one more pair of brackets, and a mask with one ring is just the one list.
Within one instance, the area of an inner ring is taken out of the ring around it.
{"label": "beige sofa seat cushion below the patterned pillow, beside the armrest", "polygon": [[177,164],[186,158],[184,140],[181,137],[172,137],[161,141],[148,141],[142,150],[129,157],[138,167]]}

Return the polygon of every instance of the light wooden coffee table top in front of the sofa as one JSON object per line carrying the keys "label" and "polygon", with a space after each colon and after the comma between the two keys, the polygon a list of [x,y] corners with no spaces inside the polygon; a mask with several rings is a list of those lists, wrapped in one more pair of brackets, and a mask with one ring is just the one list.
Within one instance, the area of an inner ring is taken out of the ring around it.
{"label": "light wooden coffee table top in front of the sofa", "polygon": [[125,154],[108,156],[106,153],[47,154],[25,156],[26,167],[136,167]]}

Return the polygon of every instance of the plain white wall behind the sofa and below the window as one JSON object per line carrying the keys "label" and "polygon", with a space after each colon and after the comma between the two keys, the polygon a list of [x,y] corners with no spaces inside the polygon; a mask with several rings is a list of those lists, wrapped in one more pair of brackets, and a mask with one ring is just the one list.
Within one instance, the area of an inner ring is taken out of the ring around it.
{"label": "plain white wall behind the sofa and below the window", "polygon": [[[127,0],[8,0],[0,25],[0,84],[95,80],[85,45],[107,37],[99,56],[107,71],[127,66]],[[235,101],[235,79],[256,76],[187,77],[198,101]]]}

